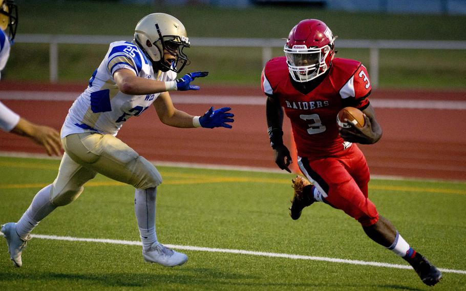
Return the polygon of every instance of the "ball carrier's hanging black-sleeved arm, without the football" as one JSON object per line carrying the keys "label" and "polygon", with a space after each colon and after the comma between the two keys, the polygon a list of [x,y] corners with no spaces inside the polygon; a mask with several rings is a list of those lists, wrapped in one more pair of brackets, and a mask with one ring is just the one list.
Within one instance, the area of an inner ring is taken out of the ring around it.
{"label": "ball carrier's hanging black-sleeved arm, without the football", "polygon": [[292,162],[291,155],[283,144],[283,108],[279,100],[270,96],[267,96],[265,105],[270,146],[275,151],[275,162],[280,169],[291,173],[288,169]]}

